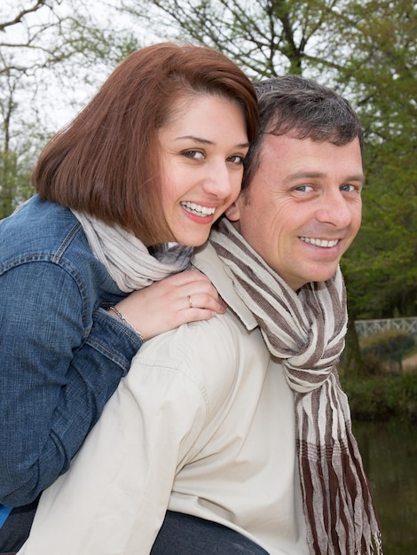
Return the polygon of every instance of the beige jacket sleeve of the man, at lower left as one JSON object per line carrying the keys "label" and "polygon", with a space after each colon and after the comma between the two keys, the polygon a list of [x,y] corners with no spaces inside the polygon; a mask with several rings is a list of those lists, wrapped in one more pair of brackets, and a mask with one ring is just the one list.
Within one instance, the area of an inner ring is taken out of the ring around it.
{"label": "beige jacket sleeve of the man, at lower left", "polygon": [[159,337],[148,348],[152,358],[134,360],[70,471],[43,492],[20,555],[151,551],[206,395],[175,363],[157,362],[167,360]]}

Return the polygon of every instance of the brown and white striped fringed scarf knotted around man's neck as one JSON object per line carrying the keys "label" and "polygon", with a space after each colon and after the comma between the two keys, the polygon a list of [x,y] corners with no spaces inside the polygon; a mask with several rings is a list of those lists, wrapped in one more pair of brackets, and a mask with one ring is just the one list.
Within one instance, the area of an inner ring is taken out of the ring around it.
{"label": "brown and white striped fringed scarf knotted around man's neck", "polygon": [[211,231],[210,242],[295,393],[311,555],[381,555],[374,503],[336,370],[347,328],[342,272],[295,293],[227,220]]}

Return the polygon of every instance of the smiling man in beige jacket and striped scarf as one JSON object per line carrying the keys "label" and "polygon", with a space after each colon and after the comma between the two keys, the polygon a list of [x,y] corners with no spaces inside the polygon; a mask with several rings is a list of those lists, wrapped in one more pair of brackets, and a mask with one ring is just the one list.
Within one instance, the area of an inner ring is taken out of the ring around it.
{"label": "smiling man in beige jacket and striped scarf", "polygon": [[[232,540],[208,547],[213,523],[252,542],[248,553],[382,553],[335,369],[362,132],[314,82],[288,76],[258,92],[240,198],[194,258],[227,313],[141,348],[71,471],[43,494],[25,555],[237,552]],[[200,537],[188,538],[190,519]]]}

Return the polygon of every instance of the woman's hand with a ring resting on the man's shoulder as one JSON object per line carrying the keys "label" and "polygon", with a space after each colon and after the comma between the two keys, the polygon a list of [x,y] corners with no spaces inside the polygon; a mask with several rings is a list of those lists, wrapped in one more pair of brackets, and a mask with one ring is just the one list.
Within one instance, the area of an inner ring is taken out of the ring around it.
{"label": "woman's hand with a ring resting on the man's shoulder", "polygon": [[149,340],[181,324],[223,314],[226,305],[209,277],[187,270],[130,293],[115,308]]}

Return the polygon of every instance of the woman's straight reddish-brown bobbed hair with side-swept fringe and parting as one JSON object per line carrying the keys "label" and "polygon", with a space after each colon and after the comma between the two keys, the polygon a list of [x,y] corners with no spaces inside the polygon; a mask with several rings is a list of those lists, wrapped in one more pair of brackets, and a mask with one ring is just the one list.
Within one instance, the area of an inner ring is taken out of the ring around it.
{"label": "woman's straight reddish-brown bobbed hair with side-swept fringe and parting", "polygon": [[157,131],[179,101],[216,94],[239,102],[248,140],[257,129],[256,92],[218,51],[159,43],[114,69],[67,128],[45,146],[32,176],[42,199],[133,232],[147,245],[169,232],[161,210]]}

